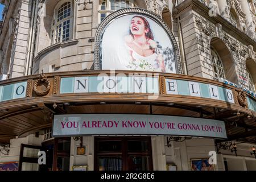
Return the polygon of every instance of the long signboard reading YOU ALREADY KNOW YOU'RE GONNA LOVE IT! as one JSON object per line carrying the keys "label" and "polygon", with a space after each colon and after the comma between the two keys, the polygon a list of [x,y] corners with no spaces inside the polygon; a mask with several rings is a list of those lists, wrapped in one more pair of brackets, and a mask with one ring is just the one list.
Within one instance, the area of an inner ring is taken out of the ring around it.
{"label": "long signboard reading YOU ALREADY KNOW YOU'RE GONNA LOVE IT!", "polygon": [[53,137],[81,135],[181,135],[226,139],[225,122],[146,114],[55,115]]}

